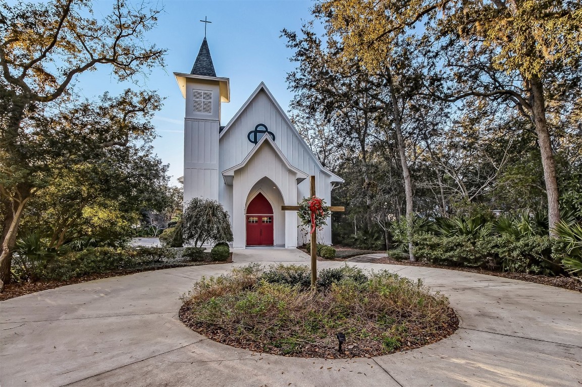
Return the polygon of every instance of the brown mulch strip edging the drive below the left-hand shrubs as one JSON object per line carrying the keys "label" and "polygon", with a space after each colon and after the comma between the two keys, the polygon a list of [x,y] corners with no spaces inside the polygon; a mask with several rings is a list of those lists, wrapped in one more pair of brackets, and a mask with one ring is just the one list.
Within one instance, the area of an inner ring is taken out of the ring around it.
{"label": "brown mulch strip edging the drive below the left-hand shrubs", "polygon": [[226,261],[193,262],[193,263],[190,263],[190,262],[166,263],[166,264],[159,264],[156,266],[146,266],[146,267],[141,267],[141,268],[134,268],[134,269],[130,269],[130,270],[118,270],[118,271],[110,271],[109,273],[84,275],[83,277],[70,278],[67,281],[47,281],[47,282],[38,281],[38,282],[22,282],[22,283],[8,284],[4,287],[4,291],[2,293],[0,293],[0,301],[8,300],[8,299],[15,298],[15,297],[24,296],[24,295],[27,295],[30,293],[41,292],[41,291],[45,291],[48,289],[60,288],[61,286],[65,286],[65,285],[72,285],[72,284],[79,284],[81,282],[94,281],[95,279],[102,279],[102,278],[109,278],[109,277],[120,277],[122,275],[141,273],[143,271],[162,270],[162,269],[166,269],[166,268],[214,265],[214,264],[223,264],[223,263],[232,263],[232,253],[229,256],[229,259]]}

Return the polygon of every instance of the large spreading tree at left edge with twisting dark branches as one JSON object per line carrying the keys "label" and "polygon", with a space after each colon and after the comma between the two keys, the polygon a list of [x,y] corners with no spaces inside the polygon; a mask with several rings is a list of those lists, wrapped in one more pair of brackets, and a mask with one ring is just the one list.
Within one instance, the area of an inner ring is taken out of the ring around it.
{"label": "large spreading tree at left edge with twisting dark branches", "polygon": [[[74,132],[67,130],[66,121],[55,127],[55,121],[43,114],[56,109],[51,102],[70,100],[77,74],[93,71],[97,64],[111,65],[119,80],[163,65],[165,50],[143,42],[145,31],[155,25],[158,13],[145,5],[127,6],[118,0],[112,13],[98,20],[88,1],[19,2],[14,6],[0,3],[0,291],[10,280],[20,218],[29,200],[45,184],[43,173],[53,160],[62,162],[76,153],[76,148],[71,148],[76,144],[69,138]],[[127,146],[131,139],[150,135],[143,127],[132,125],[132,119],[139,114],[147,116],[156,102],[159,106],[157,96],[134,93],[132,98],[109,102],[114,113],[103,113],[115,120],[107,128],[98,127],[96,133],[83,132],[83,138],[73,136],[76,141],[82,139],[80,142],[107,148]],[[119,115],[112,117],[115,113]],[[37,145],[42,145],[44,152],[41,161],[31,156],[40,153],[35,149]]]}

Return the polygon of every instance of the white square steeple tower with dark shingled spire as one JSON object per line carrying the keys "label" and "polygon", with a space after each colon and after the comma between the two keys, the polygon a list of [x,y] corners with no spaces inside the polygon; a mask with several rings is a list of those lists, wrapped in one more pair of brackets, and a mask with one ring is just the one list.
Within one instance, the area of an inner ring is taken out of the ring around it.
{"label": "white square steeple tower with dark shingled spire", "polygon": [[174,73],[186,99],[184,114],[184,203],[218,200],[218,135],[221,103],[230,101],[229,79],[217,77],[206,38],[190,74]]}

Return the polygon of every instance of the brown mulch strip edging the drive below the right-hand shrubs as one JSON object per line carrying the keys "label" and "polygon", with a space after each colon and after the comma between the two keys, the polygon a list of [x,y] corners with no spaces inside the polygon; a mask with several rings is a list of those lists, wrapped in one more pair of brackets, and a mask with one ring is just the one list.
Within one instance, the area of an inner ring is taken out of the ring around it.
{"label": "brown mulch strip edging the drive below the right-hand shrubs", "polygon": [[495,277],[510,279],[519,279],[520,281],[534,282],[535,284],[556,286],[556,288],[563,288],[571,291],[582,292],[582,282],[574,277],[548,277],[547,275],[506,273],[501,271],[482,270],[480,268],[443,266],[424,262],[399,261],[388,257],[375,259],[373,263],[405,265],[405,266],[423,266],[423,267],[443,268],[447,270],[469,271],[469,273],[494,275]]}

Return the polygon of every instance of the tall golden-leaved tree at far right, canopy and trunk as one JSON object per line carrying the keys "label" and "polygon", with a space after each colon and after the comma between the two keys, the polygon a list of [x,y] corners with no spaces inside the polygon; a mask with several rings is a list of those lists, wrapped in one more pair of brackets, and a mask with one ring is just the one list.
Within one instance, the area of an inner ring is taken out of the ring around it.
{"label": "tall golden-leaved tree at far right, canopy and trunk", "polygon": [[[425,30],[434,56],[434,71],[425,80],[430,94],[450,102],[470,96],[505,101],[527,117],[537,134],[549,224],[555,235],[559,192],[548,98],[571,98],[580,88],[578,2],[349,0],[322,2],[320,7],[332,28],[342,32],[342,56],[381,69],[382,59],[404,31]],[[450,87],[438,87],[443,75]]]}

